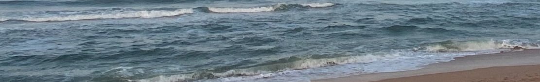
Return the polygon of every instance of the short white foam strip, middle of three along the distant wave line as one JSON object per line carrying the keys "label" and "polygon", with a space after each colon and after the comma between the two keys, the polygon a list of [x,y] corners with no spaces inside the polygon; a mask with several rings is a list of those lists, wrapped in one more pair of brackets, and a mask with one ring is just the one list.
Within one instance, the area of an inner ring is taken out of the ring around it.
{"label": "short white foam strip, middle of three along the distant wave line", "polygon": [[228,12],[268,12],[274,11],[274,6],[258,7],[258,8],[208,8],[212,12],[228,13]]}

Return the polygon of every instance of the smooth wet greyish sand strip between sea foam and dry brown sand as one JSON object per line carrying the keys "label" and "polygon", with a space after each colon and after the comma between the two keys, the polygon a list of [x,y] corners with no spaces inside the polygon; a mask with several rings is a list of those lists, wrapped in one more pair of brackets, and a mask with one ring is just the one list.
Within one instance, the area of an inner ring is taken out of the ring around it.
{"label": "smooth wet greyish sand strip between sea foam and dry brown sand", "polygon": [[428,74],[478,70],[490,67],[540,65],[540,60],[538,59],[540,59],[540,49],[529,49],[523,51],[491,54],[477,54],[473,56],[457,57],[454,60],[448,62],[429,64],[426,66],[422,66],[423,68],[419,70],[370,73],[339,78],[314,79],[312,80],[312,82],[373,82],[389,79],[425,76]]}

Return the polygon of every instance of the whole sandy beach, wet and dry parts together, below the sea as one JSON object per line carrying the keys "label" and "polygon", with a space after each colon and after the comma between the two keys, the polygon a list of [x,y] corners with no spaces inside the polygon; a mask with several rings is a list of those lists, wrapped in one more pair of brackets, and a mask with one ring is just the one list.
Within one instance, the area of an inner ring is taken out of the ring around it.
{"label": "whole sandy beach, wet and dry parts together, below the sea", "polygon": [[540,50],[479,54],[420,70],[360,74],[313,82],[540,82]]}

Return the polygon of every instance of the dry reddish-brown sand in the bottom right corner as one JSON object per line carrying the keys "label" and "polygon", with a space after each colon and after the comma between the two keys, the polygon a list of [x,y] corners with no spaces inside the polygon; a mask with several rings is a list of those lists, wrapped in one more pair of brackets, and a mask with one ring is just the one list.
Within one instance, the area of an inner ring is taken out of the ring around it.
{"label": "dry reddish-brown sand in the bottom right corner", "polygon": [[540,82],[540,65],[489,67],[374,82]]}

